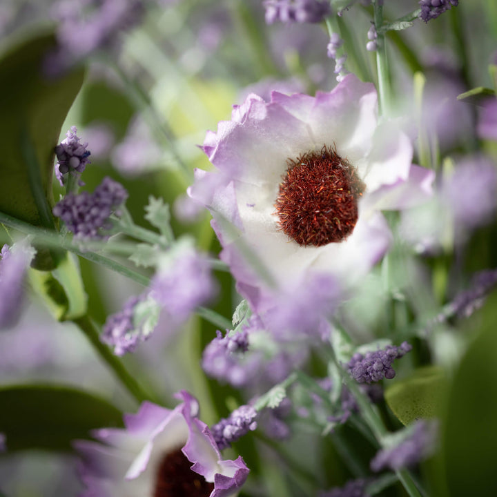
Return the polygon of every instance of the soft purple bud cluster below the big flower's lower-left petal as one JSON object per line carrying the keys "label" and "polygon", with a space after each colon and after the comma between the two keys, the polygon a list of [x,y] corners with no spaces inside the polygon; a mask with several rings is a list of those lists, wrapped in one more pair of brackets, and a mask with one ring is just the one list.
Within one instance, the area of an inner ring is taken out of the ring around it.
{"label": "soft purple bud cluster below the big flower's lower-left petal", "polygon": [[220,331],[216,333],[216,338],[204,350],[202,368],[208,376],[240,387],[246,380],[246,371],[239,356],[249,349],[249,333],[246,329],[231,336],[226,332],[224,337]]}

